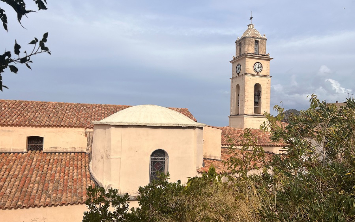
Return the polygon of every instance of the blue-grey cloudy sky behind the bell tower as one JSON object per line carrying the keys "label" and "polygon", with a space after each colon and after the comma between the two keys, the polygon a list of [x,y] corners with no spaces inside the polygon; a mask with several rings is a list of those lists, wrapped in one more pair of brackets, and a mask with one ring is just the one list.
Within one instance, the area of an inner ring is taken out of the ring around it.
{"label": "blue-grey cloudy sky behind the bell tower", "polygon": [[[33,1],[27,8],[36,10]],[[0,48],[49,32],[51,55],[6,70],[1,99],[188,108],[227,126],[235,40],[250,23],[267,37],[274,105],[307,109],[307,95],[342,102],[355,92],[355,1],[47,0],[22,25],[5,3]]]}

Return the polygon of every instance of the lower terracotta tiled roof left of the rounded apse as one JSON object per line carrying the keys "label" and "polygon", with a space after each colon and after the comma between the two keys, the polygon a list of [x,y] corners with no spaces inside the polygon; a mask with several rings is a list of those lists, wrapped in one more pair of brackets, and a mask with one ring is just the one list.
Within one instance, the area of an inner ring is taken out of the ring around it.
{"label": "lower terracotta tiled roof left of the rounded apse", "polygon": [[0,153],[0,209],[82,204],[88,185],[86,153]]}

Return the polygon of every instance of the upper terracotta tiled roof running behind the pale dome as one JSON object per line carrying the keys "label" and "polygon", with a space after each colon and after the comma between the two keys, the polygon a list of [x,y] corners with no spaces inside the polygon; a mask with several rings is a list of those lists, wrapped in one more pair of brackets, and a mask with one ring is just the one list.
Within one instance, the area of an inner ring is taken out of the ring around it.
{"label": "upper terracotta tiled roof running behind the pale dome", "polygon": [[[102,120],[130,105],[0,100],[0,125],[66,126],[93,128]],[[185,108],[170,108],[196,121]]]}

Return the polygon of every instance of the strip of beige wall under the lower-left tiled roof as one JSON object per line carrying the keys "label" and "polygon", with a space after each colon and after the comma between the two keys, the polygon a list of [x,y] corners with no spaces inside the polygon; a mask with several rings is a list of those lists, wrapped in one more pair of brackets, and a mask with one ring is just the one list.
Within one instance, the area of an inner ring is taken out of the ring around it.
{"label": "strip of beige wall under the lower-left tiled roof", "polygon": [[1,222],[81,222],[85,204],[0,210]]}

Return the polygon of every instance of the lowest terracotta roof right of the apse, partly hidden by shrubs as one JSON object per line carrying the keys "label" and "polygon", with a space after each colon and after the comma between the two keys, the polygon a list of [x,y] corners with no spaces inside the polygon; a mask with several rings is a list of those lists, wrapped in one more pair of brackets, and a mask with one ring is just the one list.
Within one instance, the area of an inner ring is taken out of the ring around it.
{"label": "lowest terracotta roof right of the apse, partly hidden by shrubs", "polygon": [[[240,151],[239,149],[237,149],[237,151]],[[250,152],[250,151],[247,151]],[[265,153],[266,159],[270,159],[272,157],[272,153]],[[229,157],[231,157],[232,155],[228,153],[228,148],[221,148],[221,159],[203,159],[204,162],[204,167],[197,169],[198,172],[202,173],[202,172],[208,172],[209,167],[211,166],[211,164],[213,164],[213,167],[216,168],[216,172],[217,173],[223,173],[224,171],[227,170],[227,165],[224,166],[224,163],[222,161],[227,161]],[[241,152],[238,153],[239,157],[241,156]],[[258,167],[261,167],[261,163],[260,162],[254,162],[257,163]],[[252,164],[254,164],[252,163]]]}

